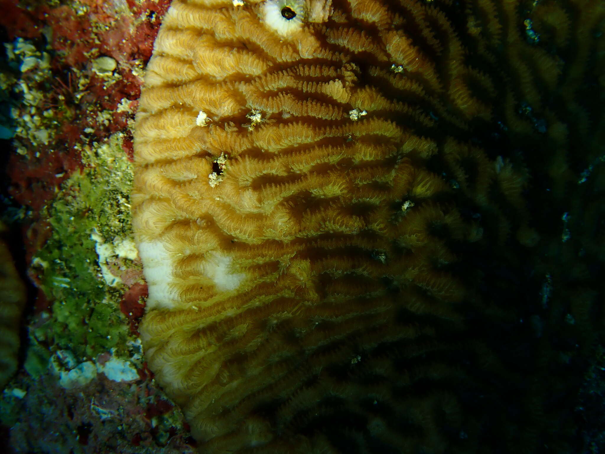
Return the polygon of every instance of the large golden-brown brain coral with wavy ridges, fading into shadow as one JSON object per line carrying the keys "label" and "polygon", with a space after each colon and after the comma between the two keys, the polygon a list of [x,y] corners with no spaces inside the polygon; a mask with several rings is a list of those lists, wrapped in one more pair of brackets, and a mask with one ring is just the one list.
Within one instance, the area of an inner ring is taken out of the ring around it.
{"label": "large golden-brown brain coral with wavy ridges, fading into shadow", "polygon": [[604,20],[600,0],[172,2],[133,228],[143,349],[201,453],[577,449]]}

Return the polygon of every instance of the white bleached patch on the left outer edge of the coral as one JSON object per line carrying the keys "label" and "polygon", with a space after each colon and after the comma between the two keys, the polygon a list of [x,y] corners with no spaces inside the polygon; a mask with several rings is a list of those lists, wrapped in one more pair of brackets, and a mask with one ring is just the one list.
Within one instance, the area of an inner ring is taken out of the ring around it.
{"label": "white bleached patch on the left outer edge of the coral", "polygon": [[143,262],[143,275],[149,286],[146,308],[174,308],[178,297],[171,288],[174,279],[172,255],[160,241],[139,243],[139,255]]}

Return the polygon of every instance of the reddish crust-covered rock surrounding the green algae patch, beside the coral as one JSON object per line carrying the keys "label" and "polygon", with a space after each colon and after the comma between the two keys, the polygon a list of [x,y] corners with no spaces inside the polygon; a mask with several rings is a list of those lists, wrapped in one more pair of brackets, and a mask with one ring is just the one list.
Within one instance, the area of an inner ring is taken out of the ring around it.
{"label": "reddish crust-covered rock surrounding the green algae patch, beside the coral", "polygon": [[[40,54],[44,52],[50,57],[47,68],[50,76],[42,79],[36,68],[18,74],[19,81],[44,94],[35,107],[42,117],[40,128],[47,131],[47,140],[35,141],[18,133],[17,153],[11,154],[6,169],[13,205],[22,206],[25,213],[21,220],[24,262],[35,287],[32,292],[35,301],[31,301],[29,317],[24,321],[27,325],[24,342],[29,349],[35,345],[36,354],[40,349],[47,349],[48,357],[54,358],[58,353],[52,338],[36,337],[49,323],[48,314],[53,314],[57,304],[56,295],[49,294],[43,283],[45,269],[55,265],[36,262],[53,236],[48,207],[56,205],[59,197],[79,197],[78,191],[84,191],[84,186],[71,183],[71,189],[66,190],[65,185],[93,166],[106,165],[94,156],[103,144],[113,143],[111,140],[119,137],[122,158],[132,160],[130,127],[140,95],[142,71],[169,4],[170,0],[0,0],[0,26],[8,36],[7,42],[25,40]],[[112,59],[115,68],[105,73],[98,71],[95,61],[99,58]],[[30,114],[27,111],[30,107],[18,105],[16,117]],[[43,116],[43,112],[48,115]],[[111,165],[108,172],[112,172]],[[77,228],[87,220],[87,212],[75,208],[73,211],[80,216],[73,220]],[[87,238],[90,233],[87,232]],[[114,241],[105,234],[103,239],[106,243]],[[94,256],[94,242],[91,251]],[[123,314],[126,331],[131,339],[136,339],[147,294],[140,260],[119,255],[106,259],[106,271],[119,278],[118,286],[106,284],[97,264],[93,265],[100,285],[107,288],[108,298],[116,301],[116,310]],[[86,384],[65,387],[60,384],[57,371],[46,366],[47,357],[39,360],[42,372],[31,373],[36,363],[36,358],[31,357],[36,354],[24,352],[26,367],[5,390],[0,409],[4,421],[0,424],[0,452],[194,452],[195,443],[189,437],[183,416],[155,386],[152,373],[142,360],[129,363],[137,368],[136,380],[114,381],[99,372]],[[112,358],[120,359],[113,350],[76,359],[80,364],[88,361],[95,367],[103,367]],[[126,357],[129,359],[132,358]],[[72,367],[65,366],[63,372]]]}

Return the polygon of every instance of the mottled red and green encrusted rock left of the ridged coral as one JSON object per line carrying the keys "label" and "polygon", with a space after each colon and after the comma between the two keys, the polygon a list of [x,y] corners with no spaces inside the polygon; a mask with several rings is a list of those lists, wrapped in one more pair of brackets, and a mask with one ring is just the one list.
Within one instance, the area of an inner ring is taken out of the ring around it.
{"label": "mottled red and green encrusted rock left of the ridged coral", "polygon": [[194,449],[142,358],[130,226],[131,123],[168,4],[0,2],[2,221],[28,283],[12,323],[19,370],[0,395],[2,453]]}

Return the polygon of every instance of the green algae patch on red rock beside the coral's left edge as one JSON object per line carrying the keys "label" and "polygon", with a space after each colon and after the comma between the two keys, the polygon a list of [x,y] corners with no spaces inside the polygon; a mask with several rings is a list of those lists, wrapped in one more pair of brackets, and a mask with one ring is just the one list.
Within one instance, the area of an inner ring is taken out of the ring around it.
{"label": "green algae patch on red rock beside the coral's left edge", "polygon": [[[126,318],[120,312],[123,287],[120,266],[132,255],[103,255],[99,243],[130,235],[128,191],[131,163],[122,150],[121,134],[105,143],[82,148],[87,167],[66,180],[54,202],[45,207],[48,239],[33,257],[36,279],[52,310],[47,332],[38,328],[57,348],[73,350],[79,358],[90,358],[113,348],[123,348],[128,338]],[[107,260],[111,262],[108,263]],[[103,269],[105,271],[103,271]]]}

